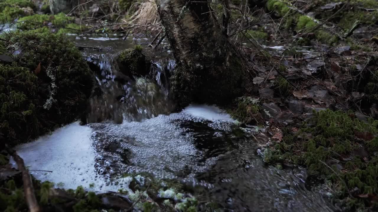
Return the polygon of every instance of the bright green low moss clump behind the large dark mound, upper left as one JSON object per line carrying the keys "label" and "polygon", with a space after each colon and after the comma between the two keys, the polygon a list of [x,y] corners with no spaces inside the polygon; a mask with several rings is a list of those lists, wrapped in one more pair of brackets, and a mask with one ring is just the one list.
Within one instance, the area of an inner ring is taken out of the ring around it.
{"label": "bright green low moss clump behind the large dark mound, upper left", "polygon": [[74,17],[66,17],[64,13],[57,15],[35,14],[20,18],[17,27],[22,30],[36,29],[38,32],[50,32],[49,23],[57,28],[66,27],[74,19]]}

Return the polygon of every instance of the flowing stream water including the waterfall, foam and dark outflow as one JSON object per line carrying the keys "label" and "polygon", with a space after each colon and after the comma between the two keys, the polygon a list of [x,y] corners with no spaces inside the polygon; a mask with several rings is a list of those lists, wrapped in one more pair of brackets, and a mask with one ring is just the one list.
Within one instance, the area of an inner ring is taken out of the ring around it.
{"label": "flowing stream water including the waterfall, foam and dark outflow", "polygon": [[75,41],[103,49],[83,53],[99,67],[103,95],[90,100],[85,126],[75,122],[17,148],[29,169],[53,171],[31,171],[38,179],[104,192],[127,189],[124,173],[149,172],[180,180],[226,211],[336,211],[326,192],[308,186],[305,169],[265,165],[257,143],[269,138],[259,128],[241,128],[215,106],[172,111],[167,95],[174,61],[166,51],[144,50],[152,60],[149,77],[130,80],[112,59],[132,48],[132,40]]}

